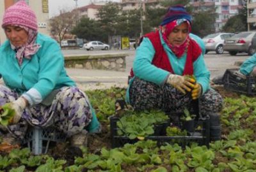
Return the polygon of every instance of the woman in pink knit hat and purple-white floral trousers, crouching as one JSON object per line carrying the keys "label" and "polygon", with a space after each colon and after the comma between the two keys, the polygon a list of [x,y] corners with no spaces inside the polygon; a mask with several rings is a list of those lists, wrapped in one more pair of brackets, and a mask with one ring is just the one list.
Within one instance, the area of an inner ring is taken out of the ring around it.
{"label": "woman in pink knit hat and purple-white floral trousers, crouching", "polygon": [[2,27],[8,40],[0,47],[0,106],[15,111],[10,125],[0,127],[4,141],[22,140],[28,125],[51,125],[73,145],[85,144],[86,133],[100,125],[88,97],[67,75],[58,43],[38,33],[35,12],[24,0],[6,9]]}

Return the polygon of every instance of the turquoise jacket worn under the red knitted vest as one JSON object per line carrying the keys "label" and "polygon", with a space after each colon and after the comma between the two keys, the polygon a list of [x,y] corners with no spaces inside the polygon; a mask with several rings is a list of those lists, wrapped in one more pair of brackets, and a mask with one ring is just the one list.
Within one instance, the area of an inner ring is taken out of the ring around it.
{"label": "turquoise jacket worn under the red knitted vest", "polygon": [[[161,32],[160,32],[161,36]],[[178,58],[173,54],[172,50],[166,45],[162,36],[161,43],[164,47],[166,54],[168,55],[169,61],[171,62],[172,69],[177,75],[182,75],[184,71],[184,66],[186,62],[187,54],[185,53],[182,57]],[[136,55],[133,62],[134,75],[138,78],[146,80],[148,82],[156,83],[157,85],[163,85],[170,73],[164,69],[157,68],[152,64],[152,60],[155,55],[155,50],[148,38],[143,38],[140,46],[136,49]],[[210,72],[208,71],[203,54],[193,62],[194,75],[196,77],[196,82],[202,85],[202,93],[209,89],[210,82]],[[129,82],[129,86],[132,83],[132,79]],[[126,101],[129,103],[129,87],[127,89]]]}

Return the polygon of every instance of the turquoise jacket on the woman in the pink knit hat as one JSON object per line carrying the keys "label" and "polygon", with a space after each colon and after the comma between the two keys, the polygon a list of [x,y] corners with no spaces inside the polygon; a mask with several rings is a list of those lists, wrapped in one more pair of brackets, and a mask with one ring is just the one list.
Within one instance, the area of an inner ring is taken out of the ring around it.
{"label": "turquoise jacket on the woman in the pink knit hat", "polygon": [[[58,43],[40,33],[38,33],[36,43],[41,45],[40,49],[31,56],[30,60],[24,58],[21,66],[17,62],[10,41],[7,40],[1,45],[0,75],[5,85],[16,90],[20,95],[25,94],[29,89],[34,89],[40,94],[41,99],[44,99],[54,89],[76,85],[67,76],[64,57]],[[32,94],[29,97],[35,99]]]}

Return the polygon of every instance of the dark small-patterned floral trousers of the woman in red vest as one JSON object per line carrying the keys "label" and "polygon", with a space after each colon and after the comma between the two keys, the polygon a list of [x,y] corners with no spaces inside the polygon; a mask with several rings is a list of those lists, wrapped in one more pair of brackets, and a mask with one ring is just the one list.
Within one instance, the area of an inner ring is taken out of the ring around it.
{"label": "dark small-patterned floral trousers of the woman in red vest", "polygon": [[[180,113],[184,108],[191,108],[191,94],[182,94],[168,84],[156,85],[152,82],[134,78],[129,89],[130,103],[135,110],[161,109],[166,112]],[[198,108],[202,115],[207,112],[219,112],[223,106],[223,99],[213,89],[207,90],[198,99]]]}

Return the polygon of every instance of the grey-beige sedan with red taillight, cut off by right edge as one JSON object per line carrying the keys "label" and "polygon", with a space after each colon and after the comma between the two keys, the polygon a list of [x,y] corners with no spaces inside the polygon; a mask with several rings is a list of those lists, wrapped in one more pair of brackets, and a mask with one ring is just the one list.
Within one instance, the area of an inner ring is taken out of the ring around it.
{"label": "grey-beige sedan with red taillight, cut off by right edge", "polygon": [[240,52],[246,52],[248,55],[255,53],[252,46],[252,39],[255,38],[256,31],[239,32],[238,34],[227,38],[224,41],[223,49],[230,55],[236,55]]}

